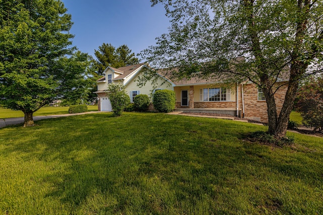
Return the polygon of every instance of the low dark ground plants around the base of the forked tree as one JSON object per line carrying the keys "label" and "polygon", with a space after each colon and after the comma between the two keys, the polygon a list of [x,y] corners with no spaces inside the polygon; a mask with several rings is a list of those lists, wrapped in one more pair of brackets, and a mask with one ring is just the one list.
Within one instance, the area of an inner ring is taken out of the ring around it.
{"label": "low dark ground plants around the base of the forked tree", "polygon": [[250,138],[263,144],[270,144],[276,146],[288,146],[294,144],[295,138],[293,136],[284,136],[283,138],[276,138],[274,135],[265,131],[255,131],[250,134]]}

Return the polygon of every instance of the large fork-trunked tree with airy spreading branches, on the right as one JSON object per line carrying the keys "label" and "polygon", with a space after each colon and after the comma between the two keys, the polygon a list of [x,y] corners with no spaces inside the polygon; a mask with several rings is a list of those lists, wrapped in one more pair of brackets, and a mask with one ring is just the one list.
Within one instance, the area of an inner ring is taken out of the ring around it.
{"label": "large fork-trunked tree with airy spreading branches, on the right", "polygon": [[[171,27],[142,57],[157,68],[178,67],[176,77],[225,75],[231,81],[251,81],[265,96],[268,133],[283,137],[299,80],[322,69],[322,1],[151,2],[165,6]],[[274,95],[286,84],[278,114]]]}

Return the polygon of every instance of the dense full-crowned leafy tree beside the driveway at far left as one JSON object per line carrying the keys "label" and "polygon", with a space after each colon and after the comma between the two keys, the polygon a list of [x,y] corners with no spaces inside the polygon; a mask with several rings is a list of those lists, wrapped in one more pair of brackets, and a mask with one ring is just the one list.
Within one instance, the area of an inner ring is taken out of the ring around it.
{"label": "dense full-crowned leafy tree beside the driveway at far left", "polygon": [[0,103],[25,115],[60,95],[65,70],[54,69],[73,48],[71,15],[59,0],[0,1]]}

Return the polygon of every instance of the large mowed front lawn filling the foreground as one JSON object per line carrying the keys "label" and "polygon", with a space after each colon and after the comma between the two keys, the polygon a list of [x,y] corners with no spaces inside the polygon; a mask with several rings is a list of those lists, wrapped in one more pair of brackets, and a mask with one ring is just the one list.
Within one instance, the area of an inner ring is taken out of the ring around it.
{"label": "large mowed front lawn filling the foreground", "polygon": [[323,138],[244,140],[266,127],[155,113],[0,129],[4,214],[322,214]]}

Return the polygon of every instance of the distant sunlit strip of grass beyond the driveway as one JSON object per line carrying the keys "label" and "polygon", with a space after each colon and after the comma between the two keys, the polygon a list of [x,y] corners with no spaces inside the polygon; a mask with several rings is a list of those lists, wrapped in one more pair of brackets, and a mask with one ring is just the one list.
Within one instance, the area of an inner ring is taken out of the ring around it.
{"label": "distant sunlit strip of grass beyond the driveway", "polygon": [[[88,105],[88,111],[97,111],[97,105]],[[69,107],[42,107],[37,110],[34,116],[46,116],[46,115],[59,115],[69,113]],[[22,111],[15,111],[11,109],[0,107],[0,119],[4,118],[16,118],[23,117],[24,113]]]}

